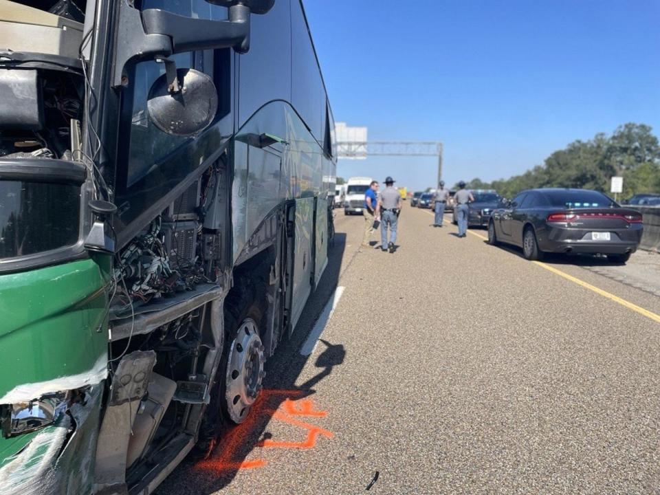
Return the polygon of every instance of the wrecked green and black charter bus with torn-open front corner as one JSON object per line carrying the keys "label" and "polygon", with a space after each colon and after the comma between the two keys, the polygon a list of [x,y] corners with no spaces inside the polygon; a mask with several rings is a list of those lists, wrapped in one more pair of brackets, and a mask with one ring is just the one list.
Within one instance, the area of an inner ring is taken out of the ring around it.
{"label": "wrecked green and black charter bus with torn-open front corner", "polygon": [[148,494],[327,265],[299,0],[0,0],[0,493]]}

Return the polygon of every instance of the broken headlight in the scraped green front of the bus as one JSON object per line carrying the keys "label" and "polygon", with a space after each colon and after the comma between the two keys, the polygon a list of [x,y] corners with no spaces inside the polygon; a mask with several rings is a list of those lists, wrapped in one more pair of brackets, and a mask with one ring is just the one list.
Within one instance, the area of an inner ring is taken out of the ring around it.
{"label": "broken headlight in the scraped green front of the bus", "polygon": [[16,437],[54,424],[69,407],[68,393],[56,392],[29,402],[0,406],[0,428],[3,437]]}

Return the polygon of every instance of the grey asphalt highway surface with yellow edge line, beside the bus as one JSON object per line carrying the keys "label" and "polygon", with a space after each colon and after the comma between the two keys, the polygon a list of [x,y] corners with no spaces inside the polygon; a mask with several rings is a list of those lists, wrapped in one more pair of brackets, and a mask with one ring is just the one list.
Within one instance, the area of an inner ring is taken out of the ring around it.
{"label": "grey asphalt highway surface with yellow edge line, beside the bus", "polygon": [[660,493],[657,295],[407,206],[397,252],[358,252],[362,217],[336,211],[253,419],[159,495],[358,494],[376,472],[374,494]]}

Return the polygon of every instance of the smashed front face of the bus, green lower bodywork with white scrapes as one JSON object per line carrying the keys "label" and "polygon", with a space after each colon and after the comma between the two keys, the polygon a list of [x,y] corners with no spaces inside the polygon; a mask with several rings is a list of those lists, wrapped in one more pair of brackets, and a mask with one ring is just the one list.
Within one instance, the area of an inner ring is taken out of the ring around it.
{"label": "smashed front face of the bus, green lower bodywork with white scrapes", "polygon": [[110,254],[85,248],[83,23],[0,1],[0,492],[84,493]]}

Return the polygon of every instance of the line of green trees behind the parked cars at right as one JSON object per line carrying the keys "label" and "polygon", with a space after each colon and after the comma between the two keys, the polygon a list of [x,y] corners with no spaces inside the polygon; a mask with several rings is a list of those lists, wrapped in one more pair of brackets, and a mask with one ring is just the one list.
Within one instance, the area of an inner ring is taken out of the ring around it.
{"label": "line of green trees behind the parked cars at right", "polygon": [[[610,178],[624,177],[622,197],[640,192],[660,192],[660,144],[646,124],[628,123],[610,136],[597,133],[592,140],[573,141],[521,175],[484,182],[474,178],[470,189],[494,189],[514,197],[525,189],[570,187],[609,193]],[[457,186],[454,186],[457,188]]]}

